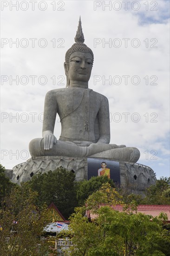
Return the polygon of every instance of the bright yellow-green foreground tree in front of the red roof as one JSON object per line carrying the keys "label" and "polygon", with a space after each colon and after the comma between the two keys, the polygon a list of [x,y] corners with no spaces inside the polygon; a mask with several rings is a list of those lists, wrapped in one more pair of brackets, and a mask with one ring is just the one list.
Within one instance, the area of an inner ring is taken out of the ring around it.
{"label": "bright yellow-green foreground tree in front of the red roof", "polygon": [[[76,209],[76,213],[70,218],[73,246],[68,255],[170,255],[170,234],[163,230],[162,220],[165,216],[162,214],[159,218],[153,218],[141,213],[134,214],[127,209],[135,205],[126,205],[121,200],[122,196],[105,183],[86,200],[93,215],[92,222],[85,218],[85,208]],[[111,205],[118,203],[123,205],[123,212],[111,208]]]}

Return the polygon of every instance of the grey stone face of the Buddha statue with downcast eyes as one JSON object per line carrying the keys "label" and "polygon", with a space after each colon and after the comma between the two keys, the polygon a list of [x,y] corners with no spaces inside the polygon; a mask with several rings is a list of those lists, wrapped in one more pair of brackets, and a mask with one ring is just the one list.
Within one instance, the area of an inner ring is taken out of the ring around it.
{"label": "grey stone face of the Buddha statue with downcast eyes", "polygon": [[69,70],[65,67],[70,81],[88,82],[92,72],[92,55],[90,53],[74,52],[70,55]]}

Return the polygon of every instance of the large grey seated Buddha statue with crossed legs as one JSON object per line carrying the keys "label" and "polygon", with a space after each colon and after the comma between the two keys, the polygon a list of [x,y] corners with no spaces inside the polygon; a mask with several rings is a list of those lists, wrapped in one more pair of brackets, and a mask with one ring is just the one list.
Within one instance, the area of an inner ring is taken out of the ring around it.
{"label": "large grey seated Buddha statue with crossed legs", "polygon": [[[109,144],[109,104],[104,95],[88,88],[93,53],[84,41],[79,20],[75,43],[65,54],[66,88],[46,94],[43,138],[30,142],[30,154],[33,157],[100,157],[137,162],[140,156],[137,148]],[[57,113],[61,121],[59,140],[53,135]]]}

